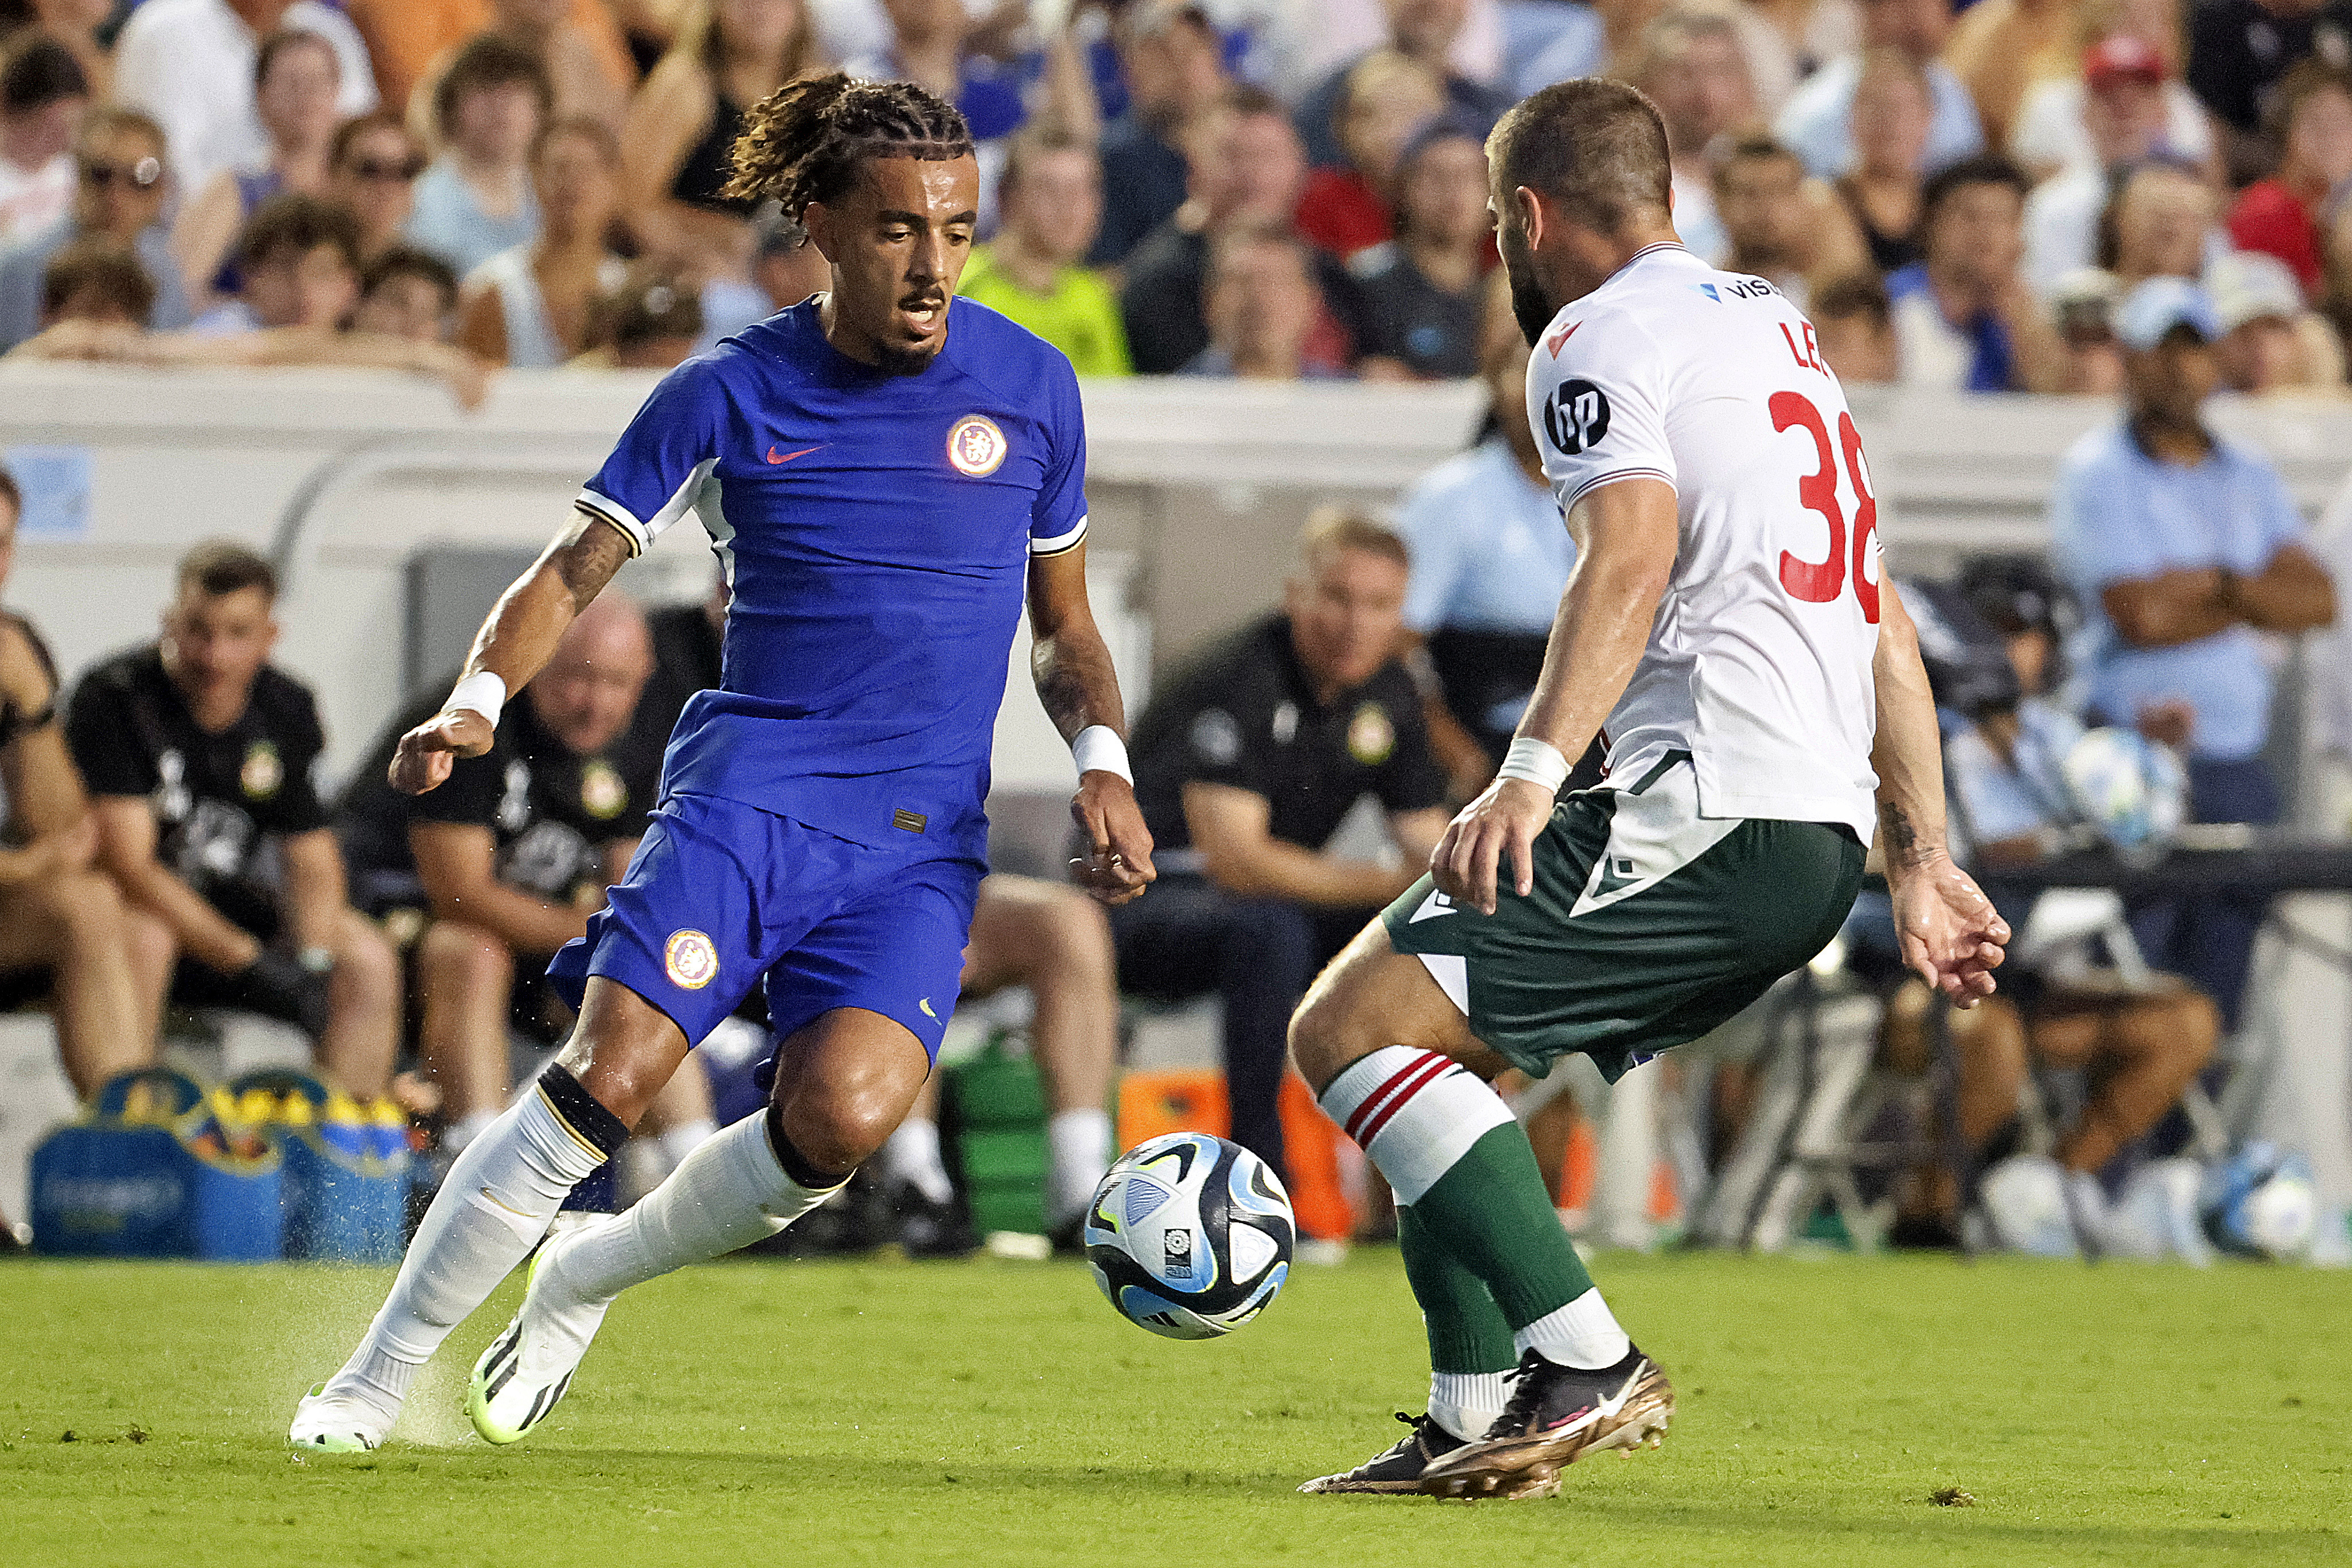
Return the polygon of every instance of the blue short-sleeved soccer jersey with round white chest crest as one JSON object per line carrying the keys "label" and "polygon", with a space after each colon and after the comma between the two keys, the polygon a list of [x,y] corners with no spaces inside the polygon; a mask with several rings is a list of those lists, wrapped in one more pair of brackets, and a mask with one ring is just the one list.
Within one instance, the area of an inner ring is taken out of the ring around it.
{"label": "blue short-sleeved soccer jersey with round white chest crest", "polygon": [[579,496],[637,550],[696,512],[734,588],[663,790],[978,856],[1025,567],[1087,536],[1084,470],[1070,362],[969,299],[917,376],[814,299],[670,371]]}

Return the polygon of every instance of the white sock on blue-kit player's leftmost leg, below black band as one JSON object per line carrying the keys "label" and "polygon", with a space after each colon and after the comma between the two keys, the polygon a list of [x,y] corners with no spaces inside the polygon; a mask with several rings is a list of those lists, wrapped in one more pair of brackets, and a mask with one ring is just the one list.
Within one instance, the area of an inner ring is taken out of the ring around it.
{"label": "white sock on blue-kit player's leftmost leg, below black band", "polygon": [[555,1114],[543,1088],[515,1100],[449,1166],[393,1293],[327,1392],[397,1410],[416,1368],[489,1300],[600,1164],[602,1150]]}

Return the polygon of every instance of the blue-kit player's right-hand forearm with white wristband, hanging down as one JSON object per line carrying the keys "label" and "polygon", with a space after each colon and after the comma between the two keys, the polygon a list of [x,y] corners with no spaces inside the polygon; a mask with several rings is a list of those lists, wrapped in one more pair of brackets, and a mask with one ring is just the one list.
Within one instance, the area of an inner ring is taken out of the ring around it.
{"label": "blue-kit player's right-hand forearm with white wristband, hanging down", "polygon": [[[1127,705],[1110,646],[1087,602],[1087,545],[1030,562],[1030,675],[1054,729],[1077,755],[1070,818],[1087,835],[1080,882],[1103,903],[1127,903],[1160,875],[1152,835],[1127,773]],[[1098,766],[1101,764],[1101,766]]]}

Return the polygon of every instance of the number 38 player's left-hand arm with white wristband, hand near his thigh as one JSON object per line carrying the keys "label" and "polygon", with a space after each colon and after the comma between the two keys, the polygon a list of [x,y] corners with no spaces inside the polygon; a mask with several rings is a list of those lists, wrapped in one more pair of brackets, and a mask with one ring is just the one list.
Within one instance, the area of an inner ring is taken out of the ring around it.
{"label": "number 38 player's left-hand arm with white wristband, hand near his thigh", "polygon": [[1446,898],[1494,914],[1496,870],[1508,858],[1524,898],[1536,886],[1536,835],[1552,799],[1625,696],[1642,663],[1658,599],[1675,576],[1679,522],[1665,480],[1618,480],[1576,503],[1581,548],[1543,649],[1543,677],[1519,719],[1503,771],[1446,825],[1430,875]]}

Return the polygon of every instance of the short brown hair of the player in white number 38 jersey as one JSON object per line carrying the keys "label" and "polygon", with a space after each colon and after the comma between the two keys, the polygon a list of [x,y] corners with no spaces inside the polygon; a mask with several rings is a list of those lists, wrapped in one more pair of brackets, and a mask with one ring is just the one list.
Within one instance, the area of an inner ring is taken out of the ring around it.
{"label": "short brown hair of the player in white number 38 jersey", "polygon": [[1670,209],[1665,120],[1625,82],[1588,75],[1522,99],[1486,139],[1486,160],[1503,190],[1526,186],[1602,235],[1644,207]]}

